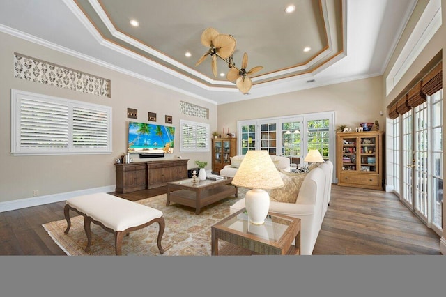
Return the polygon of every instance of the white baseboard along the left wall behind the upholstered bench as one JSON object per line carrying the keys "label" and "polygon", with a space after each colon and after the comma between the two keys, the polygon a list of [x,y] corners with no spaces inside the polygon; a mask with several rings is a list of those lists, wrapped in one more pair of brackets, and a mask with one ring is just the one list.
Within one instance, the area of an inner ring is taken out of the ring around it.
{"label": "white baseboard along the left wall behind the upholstered bench", "polygon": [[64,193],[58,193],[58,194],[52,194],[52,195],[30,197],[30,198],[0,202],[0,213],[3,213],[3,211],[15,211],[16,209],[20,209],[20,208],[39,206],[39,205],[49,204],[49,203],[54,203],[54,202],[59,202],[59,201],[66,201],[66,199],[69,199],[71,197],[81,196],[81,195],[94,194],[94,193],[100,193],[100,192],[114,192],[115,189],[116,189],[116,185],[107,185],[105,187],[100,187],[100,188],[91,188],[91,189],[86,189],[86,190],[64,192]]}

